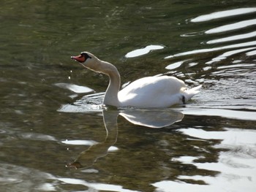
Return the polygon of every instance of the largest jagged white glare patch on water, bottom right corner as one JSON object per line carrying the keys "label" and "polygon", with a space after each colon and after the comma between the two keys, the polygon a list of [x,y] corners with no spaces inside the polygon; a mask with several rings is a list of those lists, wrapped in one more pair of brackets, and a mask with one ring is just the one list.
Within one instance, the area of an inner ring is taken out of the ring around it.
{"label": "largest jagged white glare patch on water, bottom right corner", "polygon": [[[203,131],[202,129],[180,129],[184,134],[198,139],[222,139],[214,147],[227,149],[219,154],[218,162],[195,163],[197,157],[181,157],[175,161],[193,164],[197,169],[220,172],[217,177],[202,175],[180,175],[177,180],[163,180],[153,183],[159,191],[255,191],[256,180],[256,131],[225,128],[225,131]],[[199,157],[200,158],[200,157]],[[180,180],[203,181],[206,185],[197,185]]]}

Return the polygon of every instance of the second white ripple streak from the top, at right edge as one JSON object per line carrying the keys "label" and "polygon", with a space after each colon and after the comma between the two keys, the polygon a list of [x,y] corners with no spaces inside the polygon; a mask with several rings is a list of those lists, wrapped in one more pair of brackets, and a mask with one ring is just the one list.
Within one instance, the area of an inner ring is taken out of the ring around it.
{"label": "second white ripple streak from the top, at right edge", "polygon": [[236,29],[240,29],[240,28],[245,28],[248,26],[254,26],[256,25],[256,19],[252,19],[252,20],[243,20],[237,23],[232,23],[232,24],[228,24],[225,26],[219,26],[217,28],[211,28],[210,30],[206,31],[206,34],[217,34],[217,33],[222,33],[222,32],[226,32],[226,31],[233,31]]}

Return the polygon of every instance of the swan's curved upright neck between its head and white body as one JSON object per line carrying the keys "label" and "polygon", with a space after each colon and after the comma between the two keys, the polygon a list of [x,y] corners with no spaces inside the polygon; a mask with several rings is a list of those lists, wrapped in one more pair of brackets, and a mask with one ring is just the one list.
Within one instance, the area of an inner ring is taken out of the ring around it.
{"label": "swan's curved upright neck between its head and white body", "polygon": [[120,88],[120,74],[116,69],[116,66],[113,66],[108,62],[101,61],[101,66],[102,73],[107,74],[110,79],[107,91],[105,93],[105,97],[103,99],[103,104],[118,107],[120,105],[118,100],[118,91]]}

